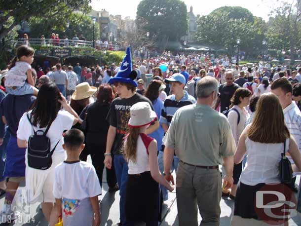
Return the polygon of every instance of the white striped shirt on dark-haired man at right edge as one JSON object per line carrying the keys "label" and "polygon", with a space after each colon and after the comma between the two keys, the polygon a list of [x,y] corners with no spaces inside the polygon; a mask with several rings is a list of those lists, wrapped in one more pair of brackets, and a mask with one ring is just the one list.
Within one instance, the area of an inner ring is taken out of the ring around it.
{"label": "white striped shirt on dark-haired man at right edge", "polygon": [[[290,134],[294,137],[299,150],[301,150],[301,112],[293,101],[292,104],[283,109],[284,121]],[[289,156],[291,158],[291,156]],[[291,160],[293,162],[293,160]]]}

